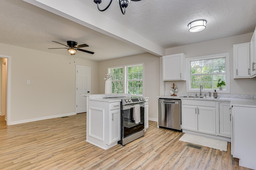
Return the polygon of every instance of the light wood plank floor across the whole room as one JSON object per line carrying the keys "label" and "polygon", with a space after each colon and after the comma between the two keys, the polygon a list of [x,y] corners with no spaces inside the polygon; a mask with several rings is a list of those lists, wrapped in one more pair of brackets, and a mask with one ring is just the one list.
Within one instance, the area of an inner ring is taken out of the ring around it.
{"label": "light wood plank floor across the whole room", "polygon": [[246,170],[228,151],[186,147],[183,133],[149,121],[145,136],[108,150],[86,142],[86,113],[6,126],[0,116],[1,170]]}

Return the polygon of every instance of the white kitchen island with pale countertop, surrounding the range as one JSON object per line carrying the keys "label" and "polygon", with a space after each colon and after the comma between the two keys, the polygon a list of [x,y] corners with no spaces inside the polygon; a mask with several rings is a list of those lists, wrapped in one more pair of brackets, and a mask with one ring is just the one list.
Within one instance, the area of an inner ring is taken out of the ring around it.
{"label": "white kitchen island with pale countertop, surrounding the range", "polygon": [[[121,99],[130,94],[93,94],[87,97],[86,141],[109,149],[121,140]],[[147,108],[147,109],[146,109]],[[148,98],[145,102],[145,127],[148,127]]]}

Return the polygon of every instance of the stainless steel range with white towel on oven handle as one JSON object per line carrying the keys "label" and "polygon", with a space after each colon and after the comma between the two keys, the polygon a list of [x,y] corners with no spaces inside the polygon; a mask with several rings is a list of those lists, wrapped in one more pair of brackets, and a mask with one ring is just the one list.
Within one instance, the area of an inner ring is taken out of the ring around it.
{"label": "stainless steel range with white towel on oven handle", "polygon": [[126,145],[144,136],[144,98],[122,97],[121,99],[121,145]]}

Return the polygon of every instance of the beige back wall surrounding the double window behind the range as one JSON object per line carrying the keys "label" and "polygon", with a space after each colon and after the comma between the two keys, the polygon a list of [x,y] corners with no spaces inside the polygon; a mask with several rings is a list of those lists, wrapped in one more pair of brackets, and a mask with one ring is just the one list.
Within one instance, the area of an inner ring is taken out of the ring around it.
{"label": "beige back wall surrounding the double window behind the range", "polygon": [[122,66],[126,64],[144,63],[144,96],[149,97],[149,117],[157,119],[157,96],[159,96],[160,82],[160,57],[150,53],[122,57],[99,62],[99,93],[104,94],[104,77],[107,74],[108,67]]}

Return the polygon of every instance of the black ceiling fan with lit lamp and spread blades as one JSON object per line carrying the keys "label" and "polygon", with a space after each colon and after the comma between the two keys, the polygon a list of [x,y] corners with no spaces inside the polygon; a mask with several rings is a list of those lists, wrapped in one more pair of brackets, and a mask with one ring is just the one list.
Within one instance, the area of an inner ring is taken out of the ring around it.
{"label": "black ceiling fan with lit lamp and spread blades", "polygon": [[48,49],[68,49],[68,52],[70,53],[70,55],[76,55],[76,51],[77,50],[78,51],[83,51],[85,53],[94,54],[94,52],[92,52],[92,51],[87,51],[87,50],[84,50],[84,49],[79,49],[79,48],[82,48],[82,47],[89,47],[89,45],[87,45],[87,44],[77,45],[77,42],[75,42],[75,41],[67,41],[67,45],[59,43],[59,42],[56,42],[56,41],[52,41],[52,42],[64,45],[66,47],[65,48],[48,48]]}

